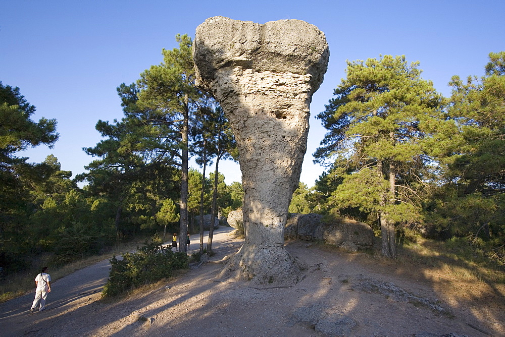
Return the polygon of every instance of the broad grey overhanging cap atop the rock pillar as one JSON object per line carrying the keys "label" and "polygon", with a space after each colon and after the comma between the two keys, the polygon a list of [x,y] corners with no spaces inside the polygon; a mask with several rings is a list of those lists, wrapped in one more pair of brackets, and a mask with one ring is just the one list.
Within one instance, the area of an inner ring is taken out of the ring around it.
{"label": "broad grey overhanging cap atop the rock pillar", "polygon": [[193,43],[197,84],[208,90],[217,70],[243,67],[256,72],[310,74],[312,95],[323,81],[329,55],[324,33],[301,20],[259,24],[216,16],[196,28]]}

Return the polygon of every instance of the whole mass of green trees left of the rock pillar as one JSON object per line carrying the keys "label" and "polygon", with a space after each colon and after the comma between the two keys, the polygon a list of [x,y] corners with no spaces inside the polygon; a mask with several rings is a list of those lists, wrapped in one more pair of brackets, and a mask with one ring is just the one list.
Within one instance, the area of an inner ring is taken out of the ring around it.
{"label": "whole mass of green trees left of the rock pillar", "polygon": [[[187,153],[194,152],[191,136],[188,139],[189,123],[196,124],[196,115],[209,115],[206,139],[217,138],[208,146],[210,156],[215,155],[211,155],[212,146],[225,144],[223,135],[230,132],[217,103],[194,85],[191,39],[178,35],[176,40],[179,47],[164,49],[163,63],[143,72],[138,84],[117,88],[124,118],[97,122],[103,140],[84,149],[95,158],[86,166],[89,173],[78,175],[75,181],[53,155],[37,164],[17,156],[30,146],[51,147],[58,139],[56,121],[32,121],[35,107],[19,88],[0,83],[0,256],[4,270],[15,271],[42,253],[54,256],[52,263],[66,263],[96,253],[117,239],[139,232],[152,234],[160,226],[166,231],[185,217]],[[77,182],[87,185],[80,189]],[[218,195],[219,207],[231,204],[224,182],[218,186]],[[179,197],[176,207],[173,201]],[[208,208],[210,199],[209,191]]]}

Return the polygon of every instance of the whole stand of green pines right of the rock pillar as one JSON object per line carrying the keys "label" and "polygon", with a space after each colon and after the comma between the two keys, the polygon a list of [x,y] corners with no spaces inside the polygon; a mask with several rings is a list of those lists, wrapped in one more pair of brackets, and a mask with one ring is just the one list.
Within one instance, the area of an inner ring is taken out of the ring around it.
{"label": "whole stand of green pines right of the rock pillar", "polygon": [[452,78],[450,100],[403,57],[348,62],[318,115],[329,132],[315,156],[330,170],[308,199],[323,214],[372,224],[379,214],[400,241],[424,222],[456,236],[449,247],[466,240],[468,254],[502,263],[505,52],[489,60],[484,77]]}

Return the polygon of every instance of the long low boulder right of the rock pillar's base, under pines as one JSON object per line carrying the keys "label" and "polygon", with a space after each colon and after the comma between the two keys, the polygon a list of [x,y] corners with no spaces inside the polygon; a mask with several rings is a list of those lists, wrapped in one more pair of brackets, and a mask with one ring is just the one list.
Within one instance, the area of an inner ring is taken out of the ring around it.
{"label": "long low boulder right of the rock pillar's base, under pines", "polygon": [[348,251],[371,248],[374,232],[366,223],[337,218],[329,222],[322,221],[320,214],[290,214],[286,222],[284,237],[322,241]]}

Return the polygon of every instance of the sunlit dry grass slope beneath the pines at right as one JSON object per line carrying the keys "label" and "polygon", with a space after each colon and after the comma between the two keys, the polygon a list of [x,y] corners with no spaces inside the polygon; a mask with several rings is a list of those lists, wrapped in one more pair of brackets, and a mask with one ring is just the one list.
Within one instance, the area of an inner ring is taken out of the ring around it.
{"label": "sunlit dry grass slope beneath the pines at right", "polygon": [[452,305],[484,309],[505,306],[505,273],[478,253],[450,249],[443,242],[418,239],[400,245],[394,260],[381,256],[380,238],[371,254],[356,254],[356,259],[371,271],[428,285]]}

